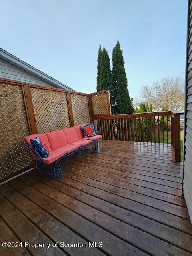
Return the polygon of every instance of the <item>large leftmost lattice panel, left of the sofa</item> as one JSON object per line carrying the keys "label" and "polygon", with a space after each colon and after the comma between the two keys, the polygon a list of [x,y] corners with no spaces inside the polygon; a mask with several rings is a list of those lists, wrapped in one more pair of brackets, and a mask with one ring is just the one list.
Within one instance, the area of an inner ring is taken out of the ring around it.
{"label": "large leftmost lattice panel, left of the sofa", "polygon": [[0,83],[0,178],[21,170],[33,163],[24,143],[29,134],[22,88]]}

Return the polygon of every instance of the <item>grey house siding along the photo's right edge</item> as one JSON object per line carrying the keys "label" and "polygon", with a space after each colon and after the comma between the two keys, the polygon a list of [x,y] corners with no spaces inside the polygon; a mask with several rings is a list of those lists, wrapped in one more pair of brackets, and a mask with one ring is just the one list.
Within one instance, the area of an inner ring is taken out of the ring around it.
{"label": "grey house siding along the photo's right edge", "polygon": [[188,1],[183,194],[192,221],[192,1]]}

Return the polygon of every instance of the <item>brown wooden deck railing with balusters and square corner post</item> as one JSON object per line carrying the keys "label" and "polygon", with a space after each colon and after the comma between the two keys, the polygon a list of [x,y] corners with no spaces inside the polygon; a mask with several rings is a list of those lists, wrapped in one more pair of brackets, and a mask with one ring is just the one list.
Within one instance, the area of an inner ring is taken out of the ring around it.
{"label": "brown wooden deck railing with balusters and square corner post", "polygon": [[180,162],[180,115],[182,114],[182,112],[162,111],[98,115],[93,116],[93,120],[104,140],[171,143],[175,150],[175,160]]}

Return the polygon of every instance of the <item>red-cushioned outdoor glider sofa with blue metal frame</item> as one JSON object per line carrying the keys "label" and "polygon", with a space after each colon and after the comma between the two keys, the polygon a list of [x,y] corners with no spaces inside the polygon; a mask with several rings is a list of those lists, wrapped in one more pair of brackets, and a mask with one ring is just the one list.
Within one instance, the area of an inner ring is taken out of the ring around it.
{"label": "red-cushioned outdoor glider sofa with blue metal frame", "polygon": [[[46,145],[46,148],[49,151],[47,158],[42,158],[40,154],[38,154],[38,152],[32,148],[30,139],[34,139],[36,137],[40,138]],[[96,135],[89,138],[83,138],[83,132],[80,128],[80,125],[78,125],[64,130],[42,134],[32,134],[24,137],[24,140],[27,142],[27,146],[30,148],[32,156],[36,162],[40,164],[41,172],[51,174],[53,177],[55,177],[56,174],[58,174],[60,177],[63,177],[59,161],[93,143],[95,143],[95,150],[98,152],[97,140],[101,137],[101,135]],[[51,163],[53,164],[53,170],[45,171],[45,164]]]}

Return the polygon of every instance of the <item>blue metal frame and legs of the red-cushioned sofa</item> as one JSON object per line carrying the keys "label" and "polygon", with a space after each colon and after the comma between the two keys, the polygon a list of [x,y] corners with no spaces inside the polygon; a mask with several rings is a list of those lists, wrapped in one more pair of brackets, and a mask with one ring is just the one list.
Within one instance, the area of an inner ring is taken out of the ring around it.
{"label": "blue metal frame and legs of the red-cushioned sofa", "polygon": [[[95,148],[94,148],[94,149],[95,149],[96,152],[98,153],[98,140],[93,140],[92,142],[90,142],[90,143],[88,143],[88,144],[86,144],[86,145],[84,145],[84,146],[80,146],[79,148],[76,148],[75,150],[73,150],[73,151],[70,152],[70,153],[64,154],[64,156],[62,156],[62,157],[59,158],[58,160],[52,162],[52,164],[53,164],[53,170],[45,170],[45,165],[49,165],[49,164],[45,164],[45,163],[43,162],[42,157],[40,156],[40,154],[39,154],[36,150],[34,150],[34,148],[30,147],[28,143],[27,143],[26,145],[27,145],[27,147],[30,148],[30,150],[32,150],[32,151],[36,154],[36,156],[38,157],[39,160],[37,160],[37,162],[40,164],[40,172],[47,173],[47,174],[51,175],[52,177],[55,177],[56,174],[57,174],[60,178],[62,178],[62,177],[63,177],[63,174],[62,174],[62,170],[61,170],[59,161],[62,160],[62,159],[64,159],[64,158],[66,158],[67,156],[72,155],[73,153],[75,153],[75,152],[77,152],[77,151],[79,151],[79,150],[82,150],[82,149],[86,148],[88,145],[93,144],[93,143],[95,143]],[[93,149],[93,148],[91,148],[91,149]],[[57,168],[57,170],[56,170],[56,168]]]}

